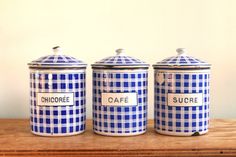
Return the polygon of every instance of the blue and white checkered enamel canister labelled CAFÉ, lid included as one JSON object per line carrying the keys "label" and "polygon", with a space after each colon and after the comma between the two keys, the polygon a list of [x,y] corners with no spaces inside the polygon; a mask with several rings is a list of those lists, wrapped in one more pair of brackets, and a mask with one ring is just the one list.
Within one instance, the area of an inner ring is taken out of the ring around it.
{"label": "blue and white checkered enamel canister labelled CAF\u00c9, lid included", "polygon": [[145,62],[116,55],[92,64],[93,130],[107,136],[132,136],[147,130],[148,67]]}

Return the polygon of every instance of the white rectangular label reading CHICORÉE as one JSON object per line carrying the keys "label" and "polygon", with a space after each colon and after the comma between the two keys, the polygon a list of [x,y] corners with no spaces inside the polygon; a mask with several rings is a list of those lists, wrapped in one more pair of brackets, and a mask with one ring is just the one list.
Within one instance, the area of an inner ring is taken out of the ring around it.
{"label": "white rectangular label reading CHICOR\u00c9E", "polygon": [[37,93],[39,106],[74,105],[74,93]]}

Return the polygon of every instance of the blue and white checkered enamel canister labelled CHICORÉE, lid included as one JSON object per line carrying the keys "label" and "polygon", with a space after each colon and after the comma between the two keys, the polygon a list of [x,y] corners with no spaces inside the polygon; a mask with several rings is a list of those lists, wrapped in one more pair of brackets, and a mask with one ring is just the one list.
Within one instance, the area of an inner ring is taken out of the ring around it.
{"label": "blue and white checkered enamel canister labelled CHICOR\u00c9E, lid included", "polygon": [[86,121],[86,64],[63,55],[59,46],[53,51],[28,64],[31,131],[41,136],[80,134]]}

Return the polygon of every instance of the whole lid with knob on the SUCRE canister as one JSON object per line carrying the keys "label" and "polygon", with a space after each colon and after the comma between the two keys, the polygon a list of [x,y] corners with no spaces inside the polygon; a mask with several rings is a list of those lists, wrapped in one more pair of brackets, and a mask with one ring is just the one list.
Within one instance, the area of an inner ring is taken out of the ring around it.
{"label": "whole lid with knob on the SUCRE canister", "polygon": [[211,64],[199,60],[197,58],[191,57],[186,55],[185,48],[178,48],[177,50],[178,55],[166,58],[160,62],[157,62],[153,65],[154,68],[210,68]]}

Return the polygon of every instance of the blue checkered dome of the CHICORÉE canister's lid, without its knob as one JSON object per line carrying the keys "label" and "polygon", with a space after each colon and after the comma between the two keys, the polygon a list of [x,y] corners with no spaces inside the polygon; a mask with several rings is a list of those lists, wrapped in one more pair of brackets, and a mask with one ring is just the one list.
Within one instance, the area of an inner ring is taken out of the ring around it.
{"label": "blue checkered dome of the CHICOR\u00c9E canister's lid, without its knob", "polygon": [[66,65],[86,66],[86,64],[83,61],[65,55],[48,55],[41,57],[37,60],[34,60],[30,63],[30,65],[39,65],[39,64],[43,66],[66,66]]}

